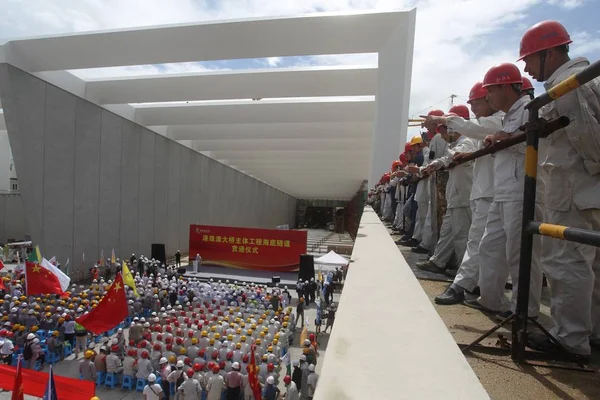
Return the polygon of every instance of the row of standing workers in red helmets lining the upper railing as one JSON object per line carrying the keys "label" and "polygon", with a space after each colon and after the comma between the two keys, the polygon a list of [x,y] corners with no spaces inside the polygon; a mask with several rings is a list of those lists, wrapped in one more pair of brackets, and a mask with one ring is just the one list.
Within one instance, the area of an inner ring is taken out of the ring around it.
{"label": "row of standing workers in red helmets lining the upper railing", "polygon": [[[569,57],[570,43],[559,22],[540,22],[523,35],[519,60],[548,90],[589,65]],[[426,132],[406,143],[369,192],[369,204],[403,234],[397,244],[428,255],[419,268],[455,275],[435,298],[438,304],[464,303],[501,319],[515,312],[526,146],[457,162],[522,133],[532,98],[533,86],[515,64],[491,67],[469,94],[475,117],[465,105],[430,111],[423,116]],[[571,122],[540,139],[536,220],[600,231],[600,79],[556,98],[540,116]],[[591,346],[600,342],[600,248],[535,236],[530,317],[539,313],[543,274],[551,290],[550,333],[573,359],[589,362]],[[509,277],[510,300],[504,293]],[[530,334],[528,345],[559,351],[541,334]]]}

